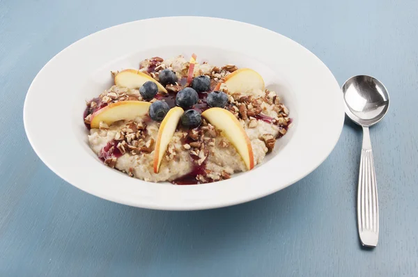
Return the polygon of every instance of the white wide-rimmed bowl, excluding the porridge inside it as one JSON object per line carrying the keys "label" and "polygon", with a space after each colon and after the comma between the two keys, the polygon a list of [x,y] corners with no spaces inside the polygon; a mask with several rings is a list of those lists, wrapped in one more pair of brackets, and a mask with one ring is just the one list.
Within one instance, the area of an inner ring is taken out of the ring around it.
{"label": "white wide-rimmed bowl, excluding the porridge inside it", "polygon": [[[293,127],[274,152],[252,171],[192,186],[144,182],[104,166],[88,148],[85,100],[111,86],[110,70],[192,53],[213,65],[253,68],[277,91]],[[284,189],[330,155],[343,119],[339,84],[314,54],[273,31],[209,17],[146,19],[88,35],[40,70],[24,103],[26,134],[54,173],[100,198],[152,209],[224,207]]]}

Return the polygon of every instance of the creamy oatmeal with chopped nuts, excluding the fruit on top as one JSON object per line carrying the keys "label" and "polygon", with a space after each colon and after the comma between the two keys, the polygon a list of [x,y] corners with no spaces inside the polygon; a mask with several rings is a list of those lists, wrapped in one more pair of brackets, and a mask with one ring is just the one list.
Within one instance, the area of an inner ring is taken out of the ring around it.
{"label": "creamy oatmeal with chopped nuts, excluding the fruit on top", "polygon": [[[160,72],[165,69],[173,70],[178,77],[176,84],[165,86],[167,93],[159,92],[148,102],[164,100],[174,106],[176,93],[189,85],[186,84],[189,66],[190,63],[183,56],[166,60],[155,57],[142,61],[139,70],[156,81],[159,81]],[[219,86],[227,75],[236,70],[238,68],[234,65],[217,68],[208,63],[195,63],[192,73],[193,77],[206,75],[210,78],[209,92],[217,86],[217,90],[226,93],[228,102],[224,109],[233,113],[245,130],[256,165],[274,148],[276,139],[286,134],[291,119],[288,118],[288,109],[273,91],[253,89],[231,93],[224,84]],[[193,109],[199,112],[208,109],[207,95],[208,92],[199,93],[199,101]],[[144,97],[137,88],[112,86],[88,102],[84,114],[86,126],[90,126],[96,111],[123,101],[144,101]],[[217,127],[201,118],[201,125],[193,129],[178,125],[164,153],[160,170],[155,173],[153,163],[160,125],[150,116],[118,120],[111,125],[100,122],[99,128],[90,129],[88,142],[91,150],[107,166],[150,182],[199,184],[228,179],[233,173],[248,170],[233,143]]]}

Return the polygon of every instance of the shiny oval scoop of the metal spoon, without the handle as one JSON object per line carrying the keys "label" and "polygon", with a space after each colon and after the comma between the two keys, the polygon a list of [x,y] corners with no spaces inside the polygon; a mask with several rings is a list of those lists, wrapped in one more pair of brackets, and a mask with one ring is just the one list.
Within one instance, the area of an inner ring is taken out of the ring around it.
{"label": "shiny oval scoop of the metal spoon, without the handle", "polygon": [[366,75],[351,77],[342,90],[347,116],[358,125],[376,124],[389,109],[389,94],[378,79]]}

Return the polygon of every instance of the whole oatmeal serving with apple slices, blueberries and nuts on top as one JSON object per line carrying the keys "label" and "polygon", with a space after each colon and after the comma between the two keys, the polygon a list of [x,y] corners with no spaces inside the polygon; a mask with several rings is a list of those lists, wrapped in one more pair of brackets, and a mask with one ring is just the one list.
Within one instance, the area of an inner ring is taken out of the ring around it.
{"label": "whole oatmeal serving with apple slices, blueberries and nuts on top", "polygon": [[87,103],[91,150],[106,166],[149,182],[201,184],[261,164],[291,125],[289,111],[249,68],[183,56],[112,72]]}

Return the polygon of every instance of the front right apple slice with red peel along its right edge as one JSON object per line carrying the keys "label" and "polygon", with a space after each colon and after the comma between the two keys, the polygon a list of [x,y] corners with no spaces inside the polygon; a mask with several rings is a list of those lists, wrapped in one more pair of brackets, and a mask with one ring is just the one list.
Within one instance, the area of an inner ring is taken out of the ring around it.
{"label": "front right apple slice with red peel along its right edge", "polygon": [[210,108],[202,113],[212,125],[222,131],[222,134],[229,139],[237,152],[245,162],[248,170],[254,168],[254,154],[251,147],[251,141],[242,128],[238,119],[230,111],[222,108]]}

